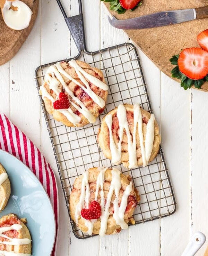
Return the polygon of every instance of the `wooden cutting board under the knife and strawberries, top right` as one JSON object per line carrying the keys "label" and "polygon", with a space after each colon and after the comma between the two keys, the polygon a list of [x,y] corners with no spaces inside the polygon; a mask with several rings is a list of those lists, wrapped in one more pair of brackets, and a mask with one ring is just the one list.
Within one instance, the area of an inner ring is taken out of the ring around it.
{"label": "wooden cutting board under the knife and strawberries, top right", "polygon": [[[114,11],[110,12],[118,19],[128,19],[159,11],[190,9],[207,5],[207,0],[143,0],[142,5],[133,12],[126,11],[122,15]],[[109,3],[106,3],[106,6],[109,8]],[[197,35],[205,29],[208,29],[208,19],[152,29],[125,30],[125,32],[161,71],[171,77],[171,70],[174,66],[171,65],[169,59],[172,55],[179,54],[184,48],[199,47]],[[202,85],[201,90],[208,91],[208,82]]]}

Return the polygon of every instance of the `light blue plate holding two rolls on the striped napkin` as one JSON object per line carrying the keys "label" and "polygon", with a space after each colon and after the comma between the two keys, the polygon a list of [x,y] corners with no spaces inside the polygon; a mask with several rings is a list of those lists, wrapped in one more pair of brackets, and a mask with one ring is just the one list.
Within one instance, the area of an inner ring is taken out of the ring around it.
{"label": "light blue plate holding two rolls on the striped napkin", "polygon": [[32,171],[13,155],[0,150],[0,163],[11,183],[11,195],[3,215],[14,213],[27,219],[32,237],[32,254],[50,256],[55,239],[55,218],[51,202]]}

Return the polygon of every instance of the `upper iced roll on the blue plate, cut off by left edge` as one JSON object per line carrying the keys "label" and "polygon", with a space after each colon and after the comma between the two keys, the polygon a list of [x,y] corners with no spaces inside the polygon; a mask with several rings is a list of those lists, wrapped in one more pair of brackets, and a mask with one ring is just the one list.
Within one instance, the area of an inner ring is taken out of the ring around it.
{"label": "upper iced roll on the blue plate, cut off by left edge", "polygon": [[2,211],[9,200],[11,187],[6,170],[0,164],[0,211]]}

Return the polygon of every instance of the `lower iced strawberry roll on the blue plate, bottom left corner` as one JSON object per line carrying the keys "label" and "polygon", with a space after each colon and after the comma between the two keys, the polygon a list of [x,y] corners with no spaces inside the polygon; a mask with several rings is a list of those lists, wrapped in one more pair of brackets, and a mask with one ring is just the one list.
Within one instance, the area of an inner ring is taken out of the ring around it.
{"label": "lower iced strawberry roll on the blue plate, bottom left corner", "polygon": [[31,255],[31,235],[25,222],[15,214],[0,218],[0,255]]}

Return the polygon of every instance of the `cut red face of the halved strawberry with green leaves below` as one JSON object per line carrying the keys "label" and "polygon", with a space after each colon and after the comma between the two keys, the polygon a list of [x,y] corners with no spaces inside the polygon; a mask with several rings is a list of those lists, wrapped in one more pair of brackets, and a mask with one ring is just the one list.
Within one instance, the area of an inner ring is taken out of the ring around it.
{"label": "cut red face of the halved strawberry with green leaves below", "polygon": [[201,48],[184,49],[178,59],[179,70],[188,78],[199,80],[208,74],[208,52]]}

